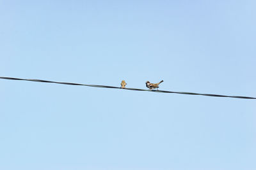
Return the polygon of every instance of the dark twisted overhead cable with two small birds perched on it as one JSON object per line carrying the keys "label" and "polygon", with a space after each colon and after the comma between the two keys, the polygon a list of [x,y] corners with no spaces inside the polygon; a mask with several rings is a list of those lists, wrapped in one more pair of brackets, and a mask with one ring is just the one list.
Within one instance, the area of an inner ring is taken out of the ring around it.
{"label": "dark twisted overhead cable with two small birds perched on it", "polygon": [[[80,83],[67,83],[67,82],[58,82],[58,81],[12,78],[12,77],[0,77],[0,78],[7,79],[7,80],[37,81],[37,82],[42,82],[42,83],[58,83],[58,84],[63,84],[63,85],[83,85],[83,86],[88,86],[88,87],[121,89],[120,87],[113,87],[113,86],[108,86],[108,85],[86,85],[86,84],[80,84]],[[147,92],[157,92],[157,93],[188,94],[188,95],[200,95],[200,96],[211,96],[211,97],[232,97],[232,98],[239,98],[239,99],[256,99],[256,97],[225,96],[225,95],[220,95],[220,94],[200,94],[200,93],[191,93],[191,92],[171,92],[171,91],[164,91],[164,90],[144,90],[144,89],[133,89],[133,88],[125,88],[123,90],[136,90],[136,91],[147,91]]]}

